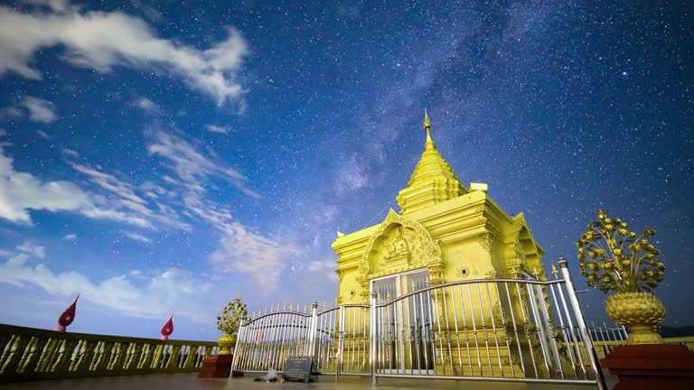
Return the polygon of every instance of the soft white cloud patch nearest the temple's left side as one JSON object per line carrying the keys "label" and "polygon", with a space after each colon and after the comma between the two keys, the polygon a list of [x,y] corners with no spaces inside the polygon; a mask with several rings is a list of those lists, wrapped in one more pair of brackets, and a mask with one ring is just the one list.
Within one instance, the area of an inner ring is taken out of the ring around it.
{"label": "soft white cloud patch nearest the temple's left side", "polygon": [[222,228],[220,247],[211,255],[211,260],[222,271],[251,274],[265,288],[277,288],[286,260],[299,255],[301,251],[296,246],[276,237],[249,232],[233,222]]}

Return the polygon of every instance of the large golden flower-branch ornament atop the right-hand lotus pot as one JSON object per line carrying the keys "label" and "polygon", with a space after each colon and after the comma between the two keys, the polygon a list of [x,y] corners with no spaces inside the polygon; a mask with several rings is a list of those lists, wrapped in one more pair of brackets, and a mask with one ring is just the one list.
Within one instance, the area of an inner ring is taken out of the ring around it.
{"label": "large golden flower-branch ornament atop the right-hand lotus pot", "polygon": [[636,235],[619,218],[597,212],[598,220],[588,225],[576,242],[581,274],[588,285],[602,292],[650,292],[662,282],[665,265],[656,258],[660,249],[648,240],[655,230]]}

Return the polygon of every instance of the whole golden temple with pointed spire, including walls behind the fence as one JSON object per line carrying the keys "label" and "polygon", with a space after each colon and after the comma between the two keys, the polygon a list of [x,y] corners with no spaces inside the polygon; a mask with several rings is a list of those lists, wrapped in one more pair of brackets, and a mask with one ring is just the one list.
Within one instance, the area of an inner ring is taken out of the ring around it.
{"label": "whole golden temple with pointed spire, including walls behind the fence", "polygon": [[[383,303],[414,294],[407,307],[399,303],[380,314],[383,328],[378,331],[389,356],[383,373],[411,367],[423,375],[445,375],[446,369],[462,375],[464,362],[473,376],[492,376],[492,362],[510,376],[537,373],[538,367],[529,363],[534,356],[544,354],[559,361],[558,349],[550,347],[555,345],[550,339],[553,325],[549,311],[542,309],[544,299],[529,299],[527,292],[510,291],[508,286],[504,294],[489,285],[486,292],[468,287],[467,300],[461,290],[417,293],[429,285],[464,280],[546,280],[540,263],[543,250],[523,215],[511,218],[487,194],[485,183],[464,187],[436,149],[426,110],[424,128],[424,152],[408,187],[397,197],[400,213],[390,209],[380,224],[333,242],[339,255],[338,304],[369,303],[370,296]],[[537,293],[533,296],[543,294]],[[511,335],[517,336],[520,328],[510,319],[522,321],[528,336],[517,338],[513,353]],[[479,348],[484,342],[488,346],[492,336],[497,345],[505,342],[508,348]],[[453,338],[459,348],[450,348]],[[461,340],[463,345],[474,340],[475,348],[460,348]],[[455,361],[461,367],[454,368]]]}

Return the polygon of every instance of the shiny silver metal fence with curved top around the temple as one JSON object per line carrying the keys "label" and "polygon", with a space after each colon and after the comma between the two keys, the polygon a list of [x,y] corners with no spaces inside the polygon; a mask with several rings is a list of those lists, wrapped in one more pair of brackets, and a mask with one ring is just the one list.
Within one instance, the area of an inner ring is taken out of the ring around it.
{"label": "shiny silver metal fence with curved top around the temple", "polygon": [[286,357],[307,356],[316,372],[371,376],[374,385],[427,377],[603,389],[591,330],[567,263],[559,265],[563,279],[553,281],[476,279],[392,299],[372,289],[369,305],[262,315],[241,324],[233,369],[281,370]]}

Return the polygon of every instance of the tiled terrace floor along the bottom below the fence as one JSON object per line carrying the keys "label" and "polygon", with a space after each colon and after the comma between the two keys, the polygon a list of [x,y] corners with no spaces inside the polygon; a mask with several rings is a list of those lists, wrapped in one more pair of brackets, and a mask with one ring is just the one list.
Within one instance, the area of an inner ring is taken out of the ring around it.
{"label": "tiled terrace floor along the bottom below the fence", "polygon": [[[334,383],[334,376],[313,376],[311,383],[253,382],[255,376],[230,379],[198,379],[197,374],[153,374],[147,376],[110,376],[84,379],[60,379],[37,382],[5,384],[3,390],[360,390],[370,389],[369,378],[341,376],[340,383]],[[608,385],[615,384],[613,376],[608,376]],[[591,390],[590,385],[538,385],[500,382],[475,382],[427,379],[389,379],[381,378],[378,390]]]}

